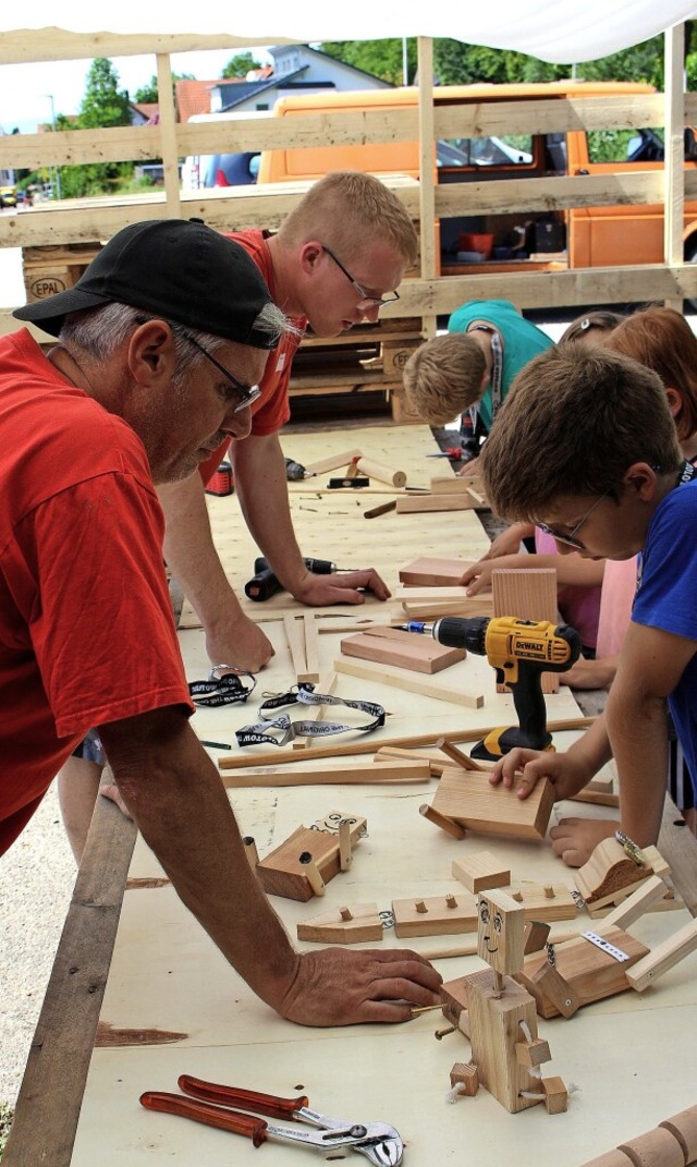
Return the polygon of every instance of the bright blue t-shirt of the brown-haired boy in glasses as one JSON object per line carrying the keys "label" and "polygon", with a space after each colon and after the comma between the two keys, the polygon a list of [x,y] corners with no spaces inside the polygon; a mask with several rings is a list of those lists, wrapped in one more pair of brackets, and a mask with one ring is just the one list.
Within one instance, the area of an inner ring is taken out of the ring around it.
{"label": "bright blue t-shirt of the brown-haired boy in glasses", "polygon": [[671,490],[649,524],[632,621],[695,641],[668,697],[688,769],[697,774],[697,481]]}

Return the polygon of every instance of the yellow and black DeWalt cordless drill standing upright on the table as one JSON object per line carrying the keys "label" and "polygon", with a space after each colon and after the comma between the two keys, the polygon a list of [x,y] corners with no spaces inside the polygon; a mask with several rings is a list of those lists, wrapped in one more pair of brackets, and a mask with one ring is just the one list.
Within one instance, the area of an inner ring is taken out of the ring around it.
{"label": "yellow and black DeWalt cordless drill standing upright on the table", "polygon": [[575,628],[516,616],[443,616],[432,624],[413,620],[402,627],[408,633],[430,633],[449,648],[486,656],[497,670],[497,682],[511,689],[518,726],[492,729],[474,746],[472,757],[495,762],[516,746],[554,748],[547,731],[542,673],[565,672],[578,661],[580,637]]}

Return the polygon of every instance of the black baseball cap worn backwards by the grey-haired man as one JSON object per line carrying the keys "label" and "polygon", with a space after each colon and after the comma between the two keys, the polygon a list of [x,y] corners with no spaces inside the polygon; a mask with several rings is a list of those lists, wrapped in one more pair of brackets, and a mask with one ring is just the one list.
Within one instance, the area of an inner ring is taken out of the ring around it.
{"label": "black baseball cap worn backwards by the grey-haired man", "polygon": [[200,219],[148,219],[125,226],[75,287],[13,315],[58,336],[69,313],[114,302],[256,349],[279,343],[277,333],[258,324],[273,300],[256,264],[238,243]]}

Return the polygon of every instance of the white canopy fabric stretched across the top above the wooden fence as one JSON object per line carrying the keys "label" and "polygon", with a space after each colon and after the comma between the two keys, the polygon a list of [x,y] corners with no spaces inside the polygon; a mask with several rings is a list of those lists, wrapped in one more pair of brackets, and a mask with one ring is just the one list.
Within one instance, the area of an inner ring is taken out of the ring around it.
{"label": "white canopy fabric stretched across the top above the wooden fence", "polygon": [[[381,0],[361,6],[288,0],[263,5],[173,5],[170,0],[120,0],[108,16],[85,0],[33,0],[6,6],[0,33],[59,25],[72,33],[227,35],[242,46],[281,42],[449,36],[470,44],[518,49],[557,64],[592,61],[639,44],[697,15],[695,0]],[[96,28],[96,22],[99,25]],[[19,26],[19,27],[17,27]],[[100,27],[101,26],[101,27]],[[106,26],[106,27],[105,27]]]}

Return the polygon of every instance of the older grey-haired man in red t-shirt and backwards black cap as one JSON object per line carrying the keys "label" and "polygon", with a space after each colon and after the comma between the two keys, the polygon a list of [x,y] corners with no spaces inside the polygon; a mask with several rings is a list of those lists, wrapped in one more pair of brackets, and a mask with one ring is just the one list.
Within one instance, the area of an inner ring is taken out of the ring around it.
{"label": "older grey-haired man in red t-shirt and backwards black cap", "polygon": [[294,951],[193,734],[154,485],[249,431],[288,329],[256,266],[199,222],[120,231],[73,288],[0,340],[0,853],[97,727],[178,895],[272,1008],[305,1025],[401,1021],[439,977],[404,951]]}

